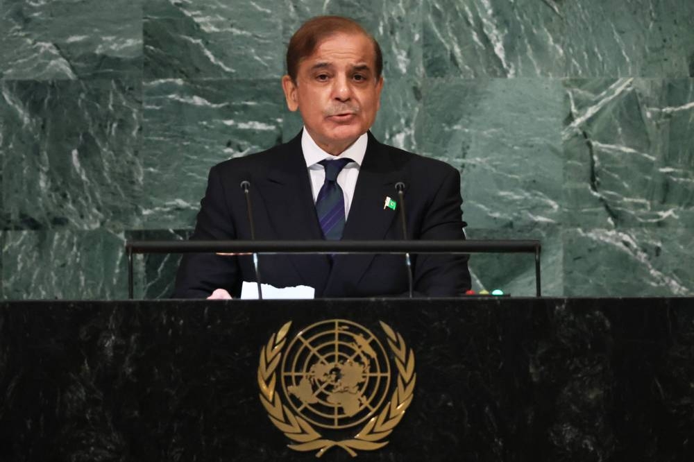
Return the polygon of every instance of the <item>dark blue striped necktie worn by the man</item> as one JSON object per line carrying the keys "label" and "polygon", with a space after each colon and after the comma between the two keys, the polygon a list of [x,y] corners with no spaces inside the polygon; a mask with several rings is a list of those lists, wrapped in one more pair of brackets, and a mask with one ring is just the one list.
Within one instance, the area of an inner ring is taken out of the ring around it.
{"label": "dark blue striped necktie worn by the man", "polygon": [[325,182],[316,199],[316,213],[321,222],[323,237],[331,241],[342,239],[345,229],[345,199],[342,188],[337,184],[337,176],[351,159],[321,160],[325,168]]}

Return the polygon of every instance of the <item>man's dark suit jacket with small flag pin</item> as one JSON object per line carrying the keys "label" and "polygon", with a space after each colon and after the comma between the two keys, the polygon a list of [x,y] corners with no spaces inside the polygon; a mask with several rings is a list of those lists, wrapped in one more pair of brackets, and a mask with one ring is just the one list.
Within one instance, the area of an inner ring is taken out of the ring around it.
{"label": "man's dark suit jacket with small flag pin", "polygon": [[[323,239],[301,149],[301,133],[262,153],[221,162],[210,170],[191,239],[251,239],[240,187],[251,182],[255,236],[259,240]],[[411,239],[464,239],[460,176],[452,166],[380,144],[369,133],[364,162],[343,239],[403,239],[397,200],[404,182]],[[399,206],[400,204],[398,204]],[[419,296],[460,296],[470,287],[466,256],[412,255]],[[403,255],[261,255],[261,280],[274,286],[308,285],[316,297],[398,296],[407,293]],[[255,281],[250,257],[187,254],[178,268],[176,298],[205,298],[222,288],[239,296]]]}

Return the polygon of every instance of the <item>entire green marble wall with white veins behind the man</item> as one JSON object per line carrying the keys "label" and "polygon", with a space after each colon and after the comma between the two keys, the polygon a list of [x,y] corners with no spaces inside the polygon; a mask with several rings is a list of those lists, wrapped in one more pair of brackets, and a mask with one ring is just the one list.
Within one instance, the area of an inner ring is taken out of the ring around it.
{"label": "entire green marble wall with white veins behind the man", "polygon": [[[380,41],[374,132],[462,171],[469,237],[541,239],[546,294],[694,293],[691,0],[0,0],[0,298],[126,296],[126,239],[185,239],[210,166],[301,127],[283,55],[323,13]],[[471,269],[533,293],[527,255]]]}

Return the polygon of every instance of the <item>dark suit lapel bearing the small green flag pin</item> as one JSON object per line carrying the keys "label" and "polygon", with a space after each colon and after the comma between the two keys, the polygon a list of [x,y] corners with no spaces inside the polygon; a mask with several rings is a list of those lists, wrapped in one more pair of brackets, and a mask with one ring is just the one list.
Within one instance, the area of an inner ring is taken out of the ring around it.
{"label": "dark suit lapel bearing the small green flag pin", "polygon": [[[407,182],[403,171],[391,160],[384,146],[369,132],[369,144],[366,146],[364,162],[359,168],[359,177],[342,237],[344,241],[384,239],[399,213],[397,208],[384,208],[384,201],[389,196],[397,202],[395,184],[398,181]],[[357,286],[374,256],[336,255],[325,292],[330,293],[332,286],[342,284]],[[337,290],[337,293],[340,292]]]}

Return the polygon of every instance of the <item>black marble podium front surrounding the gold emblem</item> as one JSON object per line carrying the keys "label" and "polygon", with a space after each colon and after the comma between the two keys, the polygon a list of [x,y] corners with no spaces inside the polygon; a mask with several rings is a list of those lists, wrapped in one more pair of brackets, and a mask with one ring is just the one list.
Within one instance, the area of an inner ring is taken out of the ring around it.
{"label": "black marble podium front surrounding the gold emblem", "polygon": [[[394,363],[383,322],[414,353],[412,404],[356,460],[694,460],[694,299],[489,298],[1,303],[0,461],[315,460],[271,422],[258,370],[283,325],[286,355],[324,320]],[[391,373],[383,402],[405,393]]]}

